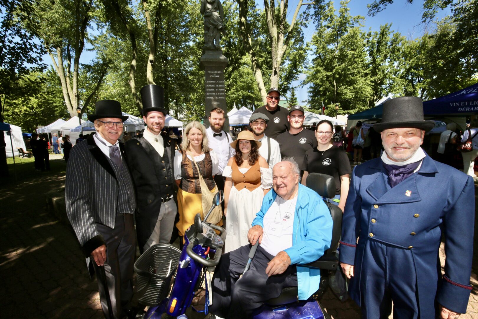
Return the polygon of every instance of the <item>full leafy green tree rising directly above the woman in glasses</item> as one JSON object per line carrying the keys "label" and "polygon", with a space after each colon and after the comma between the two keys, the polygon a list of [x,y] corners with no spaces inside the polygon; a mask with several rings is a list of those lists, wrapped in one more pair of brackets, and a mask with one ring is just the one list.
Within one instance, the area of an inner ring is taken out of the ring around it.
{"label": "full leafy green tree rising directly above the woman in glasses", "polygon": [[348,13],[348,1],[341,1],[338,15],[332,3],[326,7],[323,23],[310,43],[314,58],[303,85],[310,84],[309,108],[320,111],[324,105],[334,105],[334,112],[326,108],[326,115],[335,116],[335,104],[343,113],[355,113],[369,106],[372,96],[368,76],[366,35],[360,30],[363,17]]}

